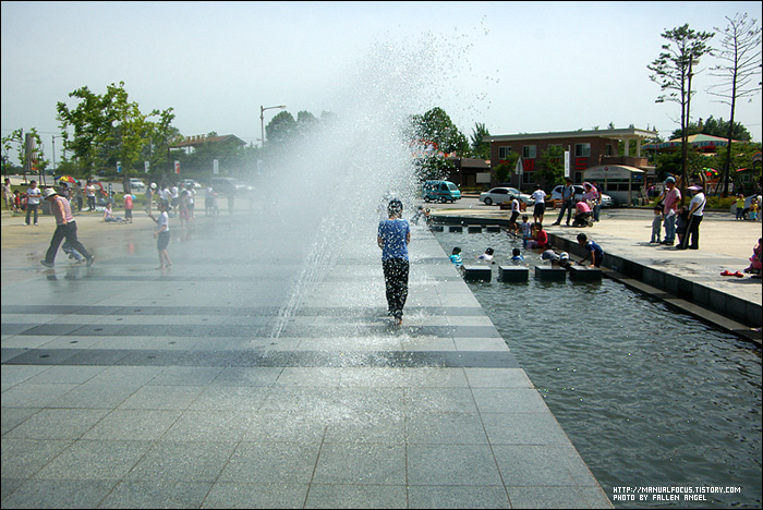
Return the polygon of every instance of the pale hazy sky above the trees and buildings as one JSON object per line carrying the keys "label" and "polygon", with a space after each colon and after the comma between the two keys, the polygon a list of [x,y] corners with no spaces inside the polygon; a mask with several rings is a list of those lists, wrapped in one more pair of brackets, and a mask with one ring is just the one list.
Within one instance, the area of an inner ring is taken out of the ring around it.
{"label": "pale hazy sky above the trees and buildings", "polygon": [[[172,107],[184,135],[261,137],[261,106],[319,117],[336,111],[372,48],[426,40],[436,62],[427,105],[470,136],[578,129],[679,126],[679,106],[655,104],[646,69],[666,29],[725,28],[761,2],[2,2],[2,134],[37,129],[50,154],[56,104],[120,81],[143,112]],[[716,45],[722,37],[713,39]],[[429,57],[423,57],[429,60]],[[706,88],[705,57],[692,120],[729,119]],[[407,76],[399,77],[405,81]],[[415,80],[412,80],[415,82]],[[760,142],[761,95],[736,120]],[[265,112],[265,124],[279,110]],[[424,113],[412,111],[411,113]],[[57,158],[60,143],[57,141]]]}

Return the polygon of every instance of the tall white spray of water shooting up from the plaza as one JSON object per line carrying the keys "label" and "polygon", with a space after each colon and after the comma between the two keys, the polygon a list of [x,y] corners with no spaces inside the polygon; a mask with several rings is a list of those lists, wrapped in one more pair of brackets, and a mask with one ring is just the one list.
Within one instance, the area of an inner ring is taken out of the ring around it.
{"label": "tall white spray of water shooting up from the plaza", "polygon": [[[385,199],[401,198],[411,216],[419,187],[411,117],[438,106],[448,76],[458,72],[458,56],[467,52],[431,34],[413,44],[377,44],[338,85],[331,116],[268,160],[257,223],[269,227],[274,256],[288,250],[299,267],[271,339],[281,336],[338,255],[380,257],[375,238]],[[366,290],[347,299],[370,306],[384,301],[382,292]]]}

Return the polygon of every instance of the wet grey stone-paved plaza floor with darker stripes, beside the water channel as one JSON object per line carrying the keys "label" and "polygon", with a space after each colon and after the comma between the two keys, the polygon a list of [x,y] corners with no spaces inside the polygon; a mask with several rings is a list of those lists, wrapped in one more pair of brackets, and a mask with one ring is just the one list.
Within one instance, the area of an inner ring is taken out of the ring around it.
{"label": "wet grey stone-paved plaza floor with darker stripes, beside the water channel", "polygon": [[3,508],[611,508],[428,230],[395,328],[375,224],[196,216],[161,271],[143,212],[52,269],[3,215]]}

